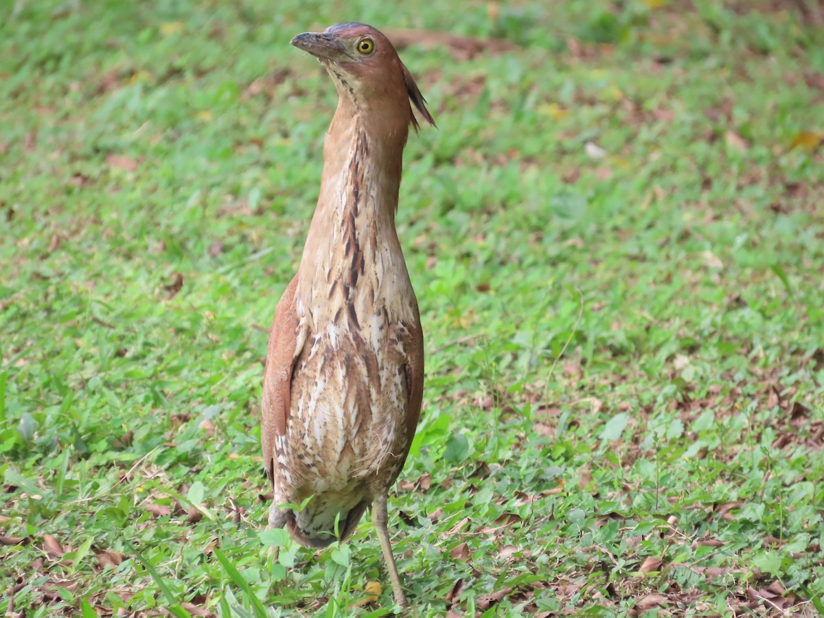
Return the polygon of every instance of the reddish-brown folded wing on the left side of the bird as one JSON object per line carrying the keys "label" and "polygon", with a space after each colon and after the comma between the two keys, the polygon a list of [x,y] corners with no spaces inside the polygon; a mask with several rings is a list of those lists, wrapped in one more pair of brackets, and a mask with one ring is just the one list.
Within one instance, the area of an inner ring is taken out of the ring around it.
{"label": "reddish-brown folded wing on the left side of the bird", "polygon": [[306,342],[305,322],[297,314],[296,290],[297,274],[280,297],[269,331],[260,410],[260,442],[269,480],[274,480],[275,440],[286,434],[293,368]]}

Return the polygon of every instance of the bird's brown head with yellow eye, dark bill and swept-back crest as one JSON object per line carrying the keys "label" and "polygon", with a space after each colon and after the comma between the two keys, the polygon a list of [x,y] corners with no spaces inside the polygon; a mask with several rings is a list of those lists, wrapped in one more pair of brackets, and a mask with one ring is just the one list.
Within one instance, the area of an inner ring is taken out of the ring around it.
{"label": "bird's brown head with yellow eye, dark bill and swept-back crest", "polygon": [[417,130],[411,101],[429,124],[435,124],[395,47],[372,26],[335,24],[323,32],[297,35],[292,44],[315,56],[335,80],[339,96],[349,99],[358,110],[394,115]]}

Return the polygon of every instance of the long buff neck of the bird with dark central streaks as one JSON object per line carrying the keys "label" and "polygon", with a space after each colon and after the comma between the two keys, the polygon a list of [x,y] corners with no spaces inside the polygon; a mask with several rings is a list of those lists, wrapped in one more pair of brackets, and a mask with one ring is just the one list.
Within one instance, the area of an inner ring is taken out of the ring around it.
{"label": "long buff neck of the bird with dark central streaks", "polygon": [[297,290],[313,321],[349,328],[360,327],[364,303],[410,285],[395,230],[408,129],[368,120],[339,105],[326,133],[321,194]]}

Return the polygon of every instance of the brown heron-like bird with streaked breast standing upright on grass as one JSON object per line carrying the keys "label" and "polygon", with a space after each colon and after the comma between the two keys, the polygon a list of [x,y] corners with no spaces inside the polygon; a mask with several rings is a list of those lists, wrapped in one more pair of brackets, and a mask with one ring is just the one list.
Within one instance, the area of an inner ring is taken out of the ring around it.
{"label": "brown heron-like bird with streaked breast standing upright on grass", "polygon": [[[397,605],[407,606],[387,528],[387,499],[409,454],[424,393],[424,335],[395,227],[403,151],[435,121],[379,30],[305,32],[338,105],[323,147],[300,265],[269,333],[261,447],[272,484],[269,527],[320,548],[351,535],[371,508]],[[302,508],[297,508],[302,505]]]}

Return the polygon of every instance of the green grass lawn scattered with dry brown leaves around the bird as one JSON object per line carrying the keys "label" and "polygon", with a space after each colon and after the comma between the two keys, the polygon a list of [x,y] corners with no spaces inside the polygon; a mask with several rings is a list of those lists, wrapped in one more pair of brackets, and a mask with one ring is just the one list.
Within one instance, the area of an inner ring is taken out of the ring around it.
{"label": "green grass lawn scattered with dry brown leaves around the bird", "polygon": [[368,518],[260,534],[335,105],[288,40],[358,20],[517,45],[401,51],[417,613],[824,612],[824,30],[761,4],[0,4],[0,611],[391,613]]}

